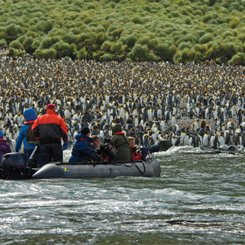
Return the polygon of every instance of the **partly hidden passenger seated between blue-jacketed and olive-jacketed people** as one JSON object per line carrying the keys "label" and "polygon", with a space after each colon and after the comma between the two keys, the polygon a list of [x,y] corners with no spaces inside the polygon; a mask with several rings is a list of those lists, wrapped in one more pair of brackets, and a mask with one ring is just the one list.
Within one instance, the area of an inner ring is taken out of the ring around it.
{"label": "partly hidden passenger seated between blue-jacketed and olive-jacketed people", "polygon": [[115,160],[112,146],[110,144],[101,144],[100,138],[97,135],[91,136],[94,143],[96,153],[101,157],[104,162],[111,162]]}

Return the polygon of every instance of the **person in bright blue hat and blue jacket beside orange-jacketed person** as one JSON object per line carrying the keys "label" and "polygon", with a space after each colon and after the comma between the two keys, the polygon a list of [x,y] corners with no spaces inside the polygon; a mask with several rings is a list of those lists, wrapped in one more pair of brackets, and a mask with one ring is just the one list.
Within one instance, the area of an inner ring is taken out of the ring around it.
{"label": "person in bright blue hat and blue jacket beside orange-jacketed person", "polygon": [[35,139],[34,134],[32,132],[32,124],[37,118],[37,113],[33,108],[28,108],[23,113],[25,122],[21,126],[18,137],[16,139],[15,151],[19,152],[21,149],[21,145],[23,143],[24,146],[24,159],[27,161],[31,156],[31,153],[35,149],[38,144],[38,140]]}

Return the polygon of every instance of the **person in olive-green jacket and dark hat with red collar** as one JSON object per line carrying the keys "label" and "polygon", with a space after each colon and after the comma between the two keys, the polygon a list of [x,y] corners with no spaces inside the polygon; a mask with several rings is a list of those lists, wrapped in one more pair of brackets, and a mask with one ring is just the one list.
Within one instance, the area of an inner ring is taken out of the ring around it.
{"label": "person in olive-green jacket and dark hat with red collar", "polygon": [[112,127],[112,145],[116,149],[115,160],[120,162],[131,161],[131,150],[128,144],[128,138],[122,132],[120,124]]}

